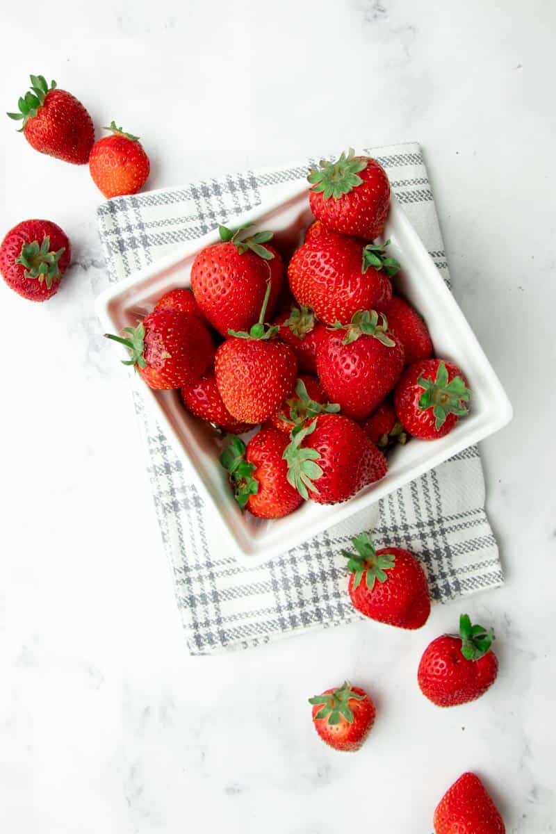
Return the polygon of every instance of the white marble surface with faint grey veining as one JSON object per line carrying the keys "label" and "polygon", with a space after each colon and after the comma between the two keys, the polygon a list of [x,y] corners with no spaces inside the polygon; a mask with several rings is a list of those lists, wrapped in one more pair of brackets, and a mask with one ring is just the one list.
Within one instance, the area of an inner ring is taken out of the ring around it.
{"label": "white marble surface with faint grey veining", "polygon": [[[507,584],[465,603],[495,625],[501,671],[452,711],[423,700],[415,670],[459,605],[417,634],[361,624],[190,658],[125,372],[93,314],[99,194],[87,168],[34,153],[5,119],[2,231],[53,219],[75,261],[48,304],[0,286],[2,829],[332,834],[363,817],[362,830],[429,832],[439,796],[474,769],[508,831],[554,831],[553,4],[49,9],[3,12],[3,109],[29,72],[57,78],[98,125],[142,136],[151,188],[351,143],[423,143],[455,293],[515,407],[483,444]],[[319,743],[305,702],[344,676],[378,705],[357,756]]]}

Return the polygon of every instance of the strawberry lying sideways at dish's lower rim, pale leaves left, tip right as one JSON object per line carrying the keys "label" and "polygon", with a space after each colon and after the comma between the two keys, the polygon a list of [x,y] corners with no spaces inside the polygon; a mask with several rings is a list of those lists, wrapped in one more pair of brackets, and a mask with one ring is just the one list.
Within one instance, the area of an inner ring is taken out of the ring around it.
{"label": "strawberry lying sideways at dish's lower rim, pale leaves left, tip right", "polygon": [[296,426],[284,457],[290,484],[318,504],[348,500],[388,469],[361,426],[343,414],[319,414]]}

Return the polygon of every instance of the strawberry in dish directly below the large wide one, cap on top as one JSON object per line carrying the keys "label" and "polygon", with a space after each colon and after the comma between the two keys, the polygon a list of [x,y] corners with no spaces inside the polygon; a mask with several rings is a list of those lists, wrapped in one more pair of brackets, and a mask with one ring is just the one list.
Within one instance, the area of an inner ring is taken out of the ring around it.
{"label": "strawberry in dish directly below the large wide one, cap on top", "polygon": [[350,324],[334,324],[317,349],[317,373],[343,414],[363,420],[398,382],[403,345],[388,332],[386,317],[358,310]]}

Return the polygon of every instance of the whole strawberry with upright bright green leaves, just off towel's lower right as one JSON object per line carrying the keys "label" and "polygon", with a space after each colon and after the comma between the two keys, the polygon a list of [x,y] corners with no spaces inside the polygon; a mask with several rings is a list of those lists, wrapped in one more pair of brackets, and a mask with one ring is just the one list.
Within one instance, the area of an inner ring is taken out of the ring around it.
{"label": "whole strawberry with upright bright green leaves, just off towel's lower right", "polygon": [[471,625],[462,614],[459,635],[437,637],[423,653],[417,673],[423,695],[437,706],[457,706],[482,696],[498,674],[493,640],[493,629]]}

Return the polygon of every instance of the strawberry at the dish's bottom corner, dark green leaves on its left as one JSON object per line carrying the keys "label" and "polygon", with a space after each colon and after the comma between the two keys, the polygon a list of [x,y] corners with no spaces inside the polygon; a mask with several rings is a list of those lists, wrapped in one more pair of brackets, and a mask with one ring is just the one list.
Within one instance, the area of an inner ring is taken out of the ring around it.
{"label": "strawberry at the dish's bottom corner, dark green leaves on its left", "polygon": [[228,470],[238,505],[261,519],[279,519],[293,513],[303,498],[288,483],[288,465],[283,451],[288,438],[272,426],[263,428],[249,440],[234,437],[220,455]]}

